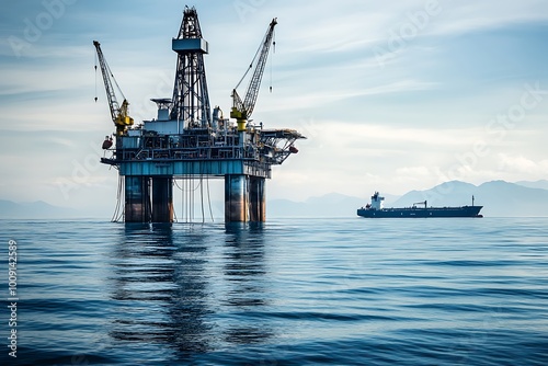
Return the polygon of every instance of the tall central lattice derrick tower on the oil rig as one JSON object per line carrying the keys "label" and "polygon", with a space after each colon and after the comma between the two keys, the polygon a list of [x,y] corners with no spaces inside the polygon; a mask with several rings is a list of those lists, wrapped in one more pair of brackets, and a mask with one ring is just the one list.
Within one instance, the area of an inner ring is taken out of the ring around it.
{"label": "tall central lattice derrick tower on the oil rig", "polygon": [[179,36],[172,41],[178,53],[171,119],[184,121],[192,127],[209,127],[212,113],[205,75],[204,54],[208,44],[202,38],[196,9],[185,8]]}

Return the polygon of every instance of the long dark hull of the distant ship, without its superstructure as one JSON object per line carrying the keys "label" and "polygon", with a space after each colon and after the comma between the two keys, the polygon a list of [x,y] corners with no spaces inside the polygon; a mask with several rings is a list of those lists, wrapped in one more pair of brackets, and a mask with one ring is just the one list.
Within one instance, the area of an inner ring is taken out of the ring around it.
{"label": "long dark hull of the distant ship, without its superstructure", "polygon": [[409,207],[409,208],[359,208],[357,216],[367,218],[426,218],[426,217],[482,217],[479,211],[483,206],[461,207]]}

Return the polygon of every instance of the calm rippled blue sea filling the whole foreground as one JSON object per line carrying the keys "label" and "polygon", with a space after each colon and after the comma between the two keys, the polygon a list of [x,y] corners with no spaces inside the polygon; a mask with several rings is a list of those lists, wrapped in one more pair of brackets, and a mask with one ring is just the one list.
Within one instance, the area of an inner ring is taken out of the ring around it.
{"label": "calm rippled blue sea filling the whole foreground", "polygon": [[548,364],[548,218],[0,227],[1,365]]}

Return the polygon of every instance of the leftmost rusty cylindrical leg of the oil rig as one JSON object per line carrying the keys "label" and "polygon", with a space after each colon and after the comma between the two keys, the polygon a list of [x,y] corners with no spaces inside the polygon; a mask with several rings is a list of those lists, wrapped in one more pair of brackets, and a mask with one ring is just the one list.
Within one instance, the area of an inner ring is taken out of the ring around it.
{"label": "leftmost rusty cylindrical leg of the oil rig", "polygon": [[125,221],[150,221],[150,178],[126,175]]}

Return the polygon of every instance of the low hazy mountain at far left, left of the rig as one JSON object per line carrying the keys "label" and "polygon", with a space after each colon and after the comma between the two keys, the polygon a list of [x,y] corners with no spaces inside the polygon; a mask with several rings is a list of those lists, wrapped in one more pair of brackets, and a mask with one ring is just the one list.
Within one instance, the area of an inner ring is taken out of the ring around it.
{"label": "low hazy mountain at far left, left of the rig", "polygon": [[70,218],[76,214],[75,209],[53,206],[43,201],[15,203],[0,199],[0,218],[3,219]]}

